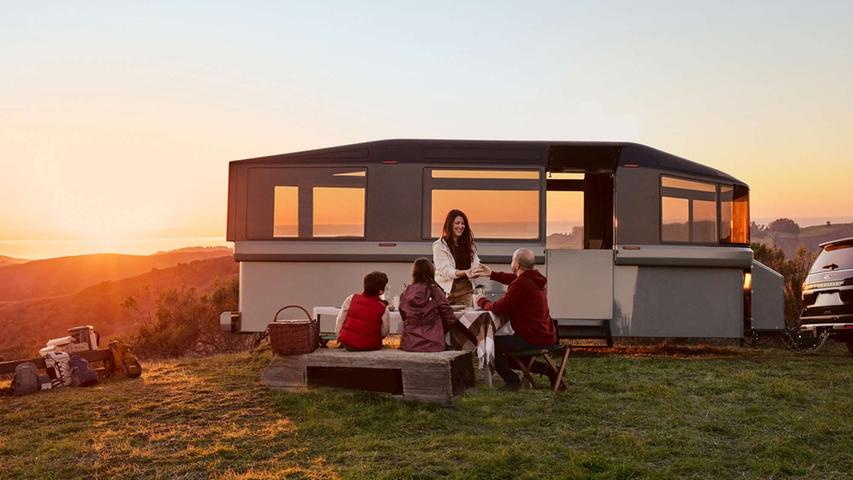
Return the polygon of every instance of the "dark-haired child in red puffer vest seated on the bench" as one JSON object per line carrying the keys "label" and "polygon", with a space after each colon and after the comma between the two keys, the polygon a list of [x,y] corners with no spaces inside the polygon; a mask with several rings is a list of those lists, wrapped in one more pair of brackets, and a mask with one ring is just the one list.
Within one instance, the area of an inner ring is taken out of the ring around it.
{"label": "dark-haired child in red puffer vest seated on the bench", "polygon": [[385,293],[388,276],[370,272],[364,290],[348,296],[335,322],[338,343],[347,350],[379,350],[391,328],[388,306],[379,298]]}

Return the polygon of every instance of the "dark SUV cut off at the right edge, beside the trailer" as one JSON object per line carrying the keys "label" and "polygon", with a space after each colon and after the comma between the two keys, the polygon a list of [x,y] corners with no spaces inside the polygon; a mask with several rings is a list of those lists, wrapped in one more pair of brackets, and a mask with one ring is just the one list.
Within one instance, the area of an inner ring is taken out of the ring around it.
{"label": "dark SUV cut off at the right edge, beside the trailer", "polygon": [[826,332],[853,354],[853,237],[820,244],[803,283],[800,331]]}

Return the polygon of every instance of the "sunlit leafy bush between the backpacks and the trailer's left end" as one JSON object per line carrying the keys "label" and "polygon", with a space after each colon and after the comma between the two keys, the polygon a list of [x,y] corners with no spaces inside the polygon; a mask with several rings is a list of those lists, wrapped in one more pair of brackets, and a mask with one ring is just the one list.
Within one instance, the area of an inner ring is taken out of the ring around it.
{"label": "sunlit leafy bush between the backpacks and the trailer's left end", "polygon": [[[194,288],[161,292],[153,322],[140,326],[131,339],[134,351],[143,357],[177,357],[247,348],[251,337],[226,333],[219,328],[219,314],[237,310],[238,296],[236,278],[202,295]],[[138,311],[132,297],[122,306]]]}

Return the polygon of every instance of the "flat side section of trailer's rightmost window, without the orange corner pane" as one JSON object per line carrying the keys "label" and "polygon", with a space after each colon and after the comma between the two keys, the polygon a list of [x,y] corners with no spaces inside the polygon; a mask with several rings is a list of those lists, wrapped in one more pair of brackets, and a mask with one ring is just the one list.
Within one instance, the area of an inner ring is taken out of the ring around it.
{"label": "flat side section of trailer's rightmost window, without the orange corner pane", "polygon": [[661,240],[717,243],[717,185],[661,177]]}

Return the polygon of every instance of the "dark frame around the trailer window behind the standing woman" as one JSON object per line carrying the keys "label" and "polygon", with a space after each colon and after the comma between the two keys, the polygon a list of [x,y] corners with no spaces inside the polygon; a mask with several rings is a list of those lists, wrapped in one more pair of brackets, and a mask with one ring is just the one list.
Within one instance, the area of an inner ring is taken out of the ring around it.
{"label": "dark frame around the trailer window behind the standing woman", "polygon": [[[495,178],[433,178],[432,171],[433,170],[461,170],[461,171],[507,171],[507,172],[536,172],[538,178],[536,179],[495,179]],[[530,165],[519,165],[519,166],[508,166],[508,165],[427,165],[424,166],[421,171],[421,239],[428,241],[435,241],[441,236],[433,237],[432,236],[432,192],[433,190],[507,190],[507,191],[537,191],[538,192],[538,211],[537,211],[537,232],[535,237],[530,238],[506,238],[506,237],[482,237],[477,236],[476,241],[484,242],[484,243],[532,243],[532,244],[543,244],[545,242],[545,227],[543,222],[545,221],[545,167],[542,166],[530,166]],[[531,185],[535,184],[536,188],[500,188],[499,186],[489,186],[488,188],[475,188],[469,186],[461,186],[461,185],[474,185],[478,183],[492,183],[494,184],[505,184],[508,182],[517,182],[517,183],[525,183],[529,182]],[[459,187],[450,188],[451,184],[461,184]],[[441,186],[437,187],[436,184]],[[448,186],[445,186],[448,185]],[[460,208],[460,210],[465,211],[464,208]],[[472,220],[473,222],[473,220]]]}

